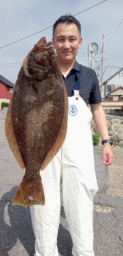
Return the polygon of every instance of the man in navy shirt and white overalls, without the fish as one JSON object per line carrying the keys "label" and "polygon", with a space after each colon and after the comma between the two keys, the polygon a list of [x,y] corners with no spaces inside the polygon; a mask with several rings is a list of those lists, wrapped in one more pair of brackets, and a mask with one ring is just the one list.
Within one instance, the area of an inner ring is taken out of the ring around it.
{"label": "man in navy shirt and white overalls, without the fish", "polygon": [[[90,121],[104,141],[103,164],[113,161],[107,122],[95,72],[76,61],[82,44],[81,25],[61,16],[53,27],[53,45],[68,94],[66,139],[55,158],[41,172],[45,205],[31,206],[36,256],[58,256],[60,183],[63,184],[65,216],[72,238],[73,256],[93,256],[93,198],[98,190]],[[88,108],[90,104],[91,111]],[[108,140],[108,141],[107,141]]]}

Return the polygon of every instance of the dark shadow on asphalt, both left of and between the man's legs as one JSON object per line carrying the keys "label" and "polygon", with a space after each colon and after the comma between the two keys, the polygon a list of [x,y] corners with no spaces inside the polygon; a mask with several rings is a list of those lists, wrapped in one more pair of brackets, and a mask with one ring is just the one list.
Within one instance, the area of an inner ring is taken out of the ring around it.
{"label": "dark shadow on asphalt, both left of and between the man's legs", "polygon": [[[32,228],[30,208],[12,205],[18,186],[3,195],[0,201],[0,255],[9,256],[8,252],[16,245],[17,239],[30,256],[34,256],[35,238]],[[61,207],[61,216],[65,218]],[[58,249],[63,256],[70,256],[72,242],[69,232],[60,224],[58,232]],[[19,251],[18,251],[19,255]]]}

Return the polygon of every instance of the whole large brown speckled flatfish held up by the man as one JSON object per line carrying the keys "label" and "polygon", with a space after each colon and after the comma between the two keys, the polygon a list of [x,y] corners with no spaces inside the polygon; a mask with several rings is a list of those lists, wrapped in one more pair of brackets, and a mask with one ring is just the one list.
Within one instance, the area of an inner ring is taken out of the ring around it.
{"label": "whole large brown speckled flatfish held up by the man", "polygon": [[11,151],[26,169],[12,204],[44,205],[39,171],[65,140],[67,113],[68,97],[57,57],[52,42],[43,37],[23,61],[5,122]]}

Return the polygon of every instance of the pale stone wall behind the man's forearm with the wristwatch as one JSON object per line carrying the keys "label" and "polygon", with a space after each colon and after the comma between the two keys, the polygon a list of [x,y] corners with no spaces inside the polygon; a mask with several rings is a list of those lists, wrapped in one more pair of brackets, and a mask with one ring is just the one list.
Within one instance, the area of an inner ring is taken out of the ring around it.
{"label": "pale stone wall behind the man's forearm with the wristwatch", "polygon": [[[119,119],[112,119],[110,121],[107,120],[107,126],[109,137],[112,138],[113,141],[116,141],[118,143],[118,146],[123,147],[123,121]],[[91,133],[98,133],[93,119],[91,120]]]}

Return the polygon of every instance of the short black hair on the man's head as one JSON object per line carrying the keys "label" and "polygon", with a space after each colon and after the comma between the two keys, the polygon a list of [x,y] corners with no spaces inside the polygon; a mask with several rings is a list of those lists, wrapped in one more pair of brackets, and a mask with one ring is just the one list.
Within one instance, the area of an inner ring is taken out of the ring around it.
{"label": "short black hair on the man's head", "polygon": [[58,18],[56,20],[56,22],[54,23],[54,25],[53,25],[53,37],[54,37],[54,34],[55,34],[56,27],[58,26],[59,23],[67,24],[67,25],[72,24],[72,23],[76,24],[76,26],[78,27],[80,36],[81,36],[81,24],[80,24],[79,20],[76,19],[74,16],[72,16],[69,13],[69,14],[65,14],[65,15],[60,16],[60,18]]}

